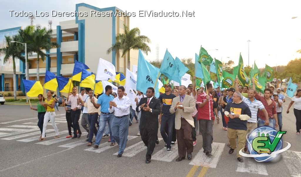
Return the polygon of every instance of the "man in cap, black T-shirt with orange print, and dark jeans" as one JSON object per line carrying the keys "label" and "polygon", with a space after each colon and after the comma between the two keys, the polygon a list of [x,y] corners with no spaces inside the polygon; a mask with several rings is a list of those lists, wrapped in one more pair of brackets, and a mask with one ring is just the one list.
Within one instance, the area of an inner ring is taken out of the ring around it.
{"label": "man in cap, black T-shirt with orange print, and dark jeans", "polygon": [[[159,96],[159,100],[161,102],[161,107],[162,107],[159,122],[161,123],[160,133],[165,142],[164,147],[166,147],[167,152],[169,153],[171,152],[172,132],[175,124],[175,114],[171,114],[169,112],[169,109],[172,104],[172,99],[174,99],[176,96],[171,93],[172,87],[170,84],[165,84],[164,87],[165,87],[165,93]],[[168,127],[167,135],[165,133],[166,126]]]}

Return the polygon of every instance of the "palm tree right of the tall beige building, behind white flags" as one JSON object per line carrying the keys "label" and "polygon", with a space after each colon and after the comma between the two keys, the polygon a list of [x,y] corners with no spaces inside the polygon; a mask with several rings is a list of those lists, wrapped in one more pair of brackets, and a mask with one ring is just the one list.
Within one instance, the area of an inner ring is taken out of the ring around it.
{"label": "palm tree right of the tall beige building, behind white flags", "polygon": [[150,42],[151,40],[147,36],[140,35],[139,28],[133,28],[129,30],[129,28],[124,25],[124,34],[117,34],[116,43],[107,50],[107,54],[111,53],[112,51],[118,52],[119,50],[122,50],[121,57],[124,57],[126,54],[128,54],[127,68],[130,70],[130,50],[140,49],[147,55],[147,52],[151,51],[151,48],[147,45],[147,43]]}

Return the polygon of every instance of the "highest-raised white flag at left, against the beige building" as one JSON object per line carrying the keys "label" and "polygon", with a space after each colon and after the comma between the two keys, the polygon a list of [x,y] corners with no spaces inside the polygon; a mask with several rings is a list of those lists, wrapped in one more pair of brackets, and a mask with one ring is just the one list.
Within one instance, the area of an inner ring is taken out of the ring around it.
{"label": "highest-raised white flag at left, against the beige building", "polygon": [[112,63],[102,58],[99,58],[95,79],[96,81],[107,81],[108,78],[110,78],[112,81],[115,81],[115,71],[115,66]]}

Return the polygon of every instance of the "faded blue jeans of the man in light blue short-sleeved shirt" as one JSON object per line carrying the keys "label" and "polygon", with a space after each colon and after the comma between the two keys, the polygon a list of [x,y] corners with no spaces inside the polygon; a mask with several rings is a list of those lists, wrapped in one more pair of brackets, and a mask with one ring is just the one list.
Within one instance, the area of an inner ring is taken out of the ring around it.
{"label": "faded blue jeans of the man in light blue short-sleeved shirt", "polygon": [[[109,124],[109,130],[110,130],[110,139],[111,142],[115,142],[115,138],[112,136],[112,121],[113,121],[113,114],[101,114],[99,116],[99,128],[95,139],[95,145],[100,144],[101,138],[104,134],[104,129],[106,127],[106,123]],[[129,124],[129,123],[128,123]]]}

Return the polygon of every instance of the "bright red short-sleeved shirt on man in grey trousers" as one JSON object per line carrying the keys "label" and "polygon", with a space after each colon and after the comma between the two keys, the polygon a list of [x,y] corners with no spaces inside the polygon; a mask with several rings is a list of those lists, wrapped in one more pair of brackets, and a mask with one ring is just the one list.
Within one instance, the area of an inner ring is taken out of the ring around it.
{"label": "bright red short-sleeved shirt on man in grey trousers", "polygon": [[[206,92],[203,92],[199,96],[197,96],[197,102],[196,104],[201,104],[206,101]],[[214,120],[214,114],[213,114],[213,96],[209,93],[209,101],[200,108],[197,105],[197,120],[205,119],[205,120]]]}

